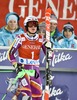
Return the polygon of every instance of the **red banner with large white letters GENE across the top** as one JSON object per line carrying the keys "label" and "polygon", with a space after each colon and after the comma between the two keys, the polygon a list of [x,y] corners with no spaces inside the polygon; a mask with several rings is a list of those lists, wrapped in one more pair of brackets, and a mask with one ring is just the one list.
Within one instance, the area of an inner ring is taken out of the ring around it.
{"label": "red banner with large white letters GENE across the top", "polygon": [[45,10],[50,6],[58,18],[58,28],[71,22],[77,35],[77,0],[0,0],[0,27],[6,24],[5,16],[9,12],[16,12],[20,16],[20,26],[29,15],[38,17],[39,22],[45,21]]}

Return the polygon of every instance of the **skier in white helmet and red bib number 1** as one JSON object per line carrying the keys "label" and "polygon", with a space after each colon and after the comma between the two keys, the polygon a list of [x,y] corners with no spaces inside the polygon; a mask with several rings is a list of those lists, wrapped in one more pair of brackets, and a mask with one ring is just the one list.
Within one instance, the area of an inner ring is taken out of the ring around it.
{"label": "skier in white helmet and red bib number 1", "polygon": [[[18,50],[19,63],[24,65],[26,70],[35,70],[36,75],[30,77],[27,74],[20,79],[19,91],[23,94],[22,100],[42,100],[42,86],[39,72],[39,56],[43,46],[43,37],[38,34],[38,19],[35,16],[28,16],[24,21],[26,33],[23,33],[14,40],[9,49],[8,58],[15,69],[18,69],[18,63],[14,57]],[[14,96],[16,100],[17,96]]]}

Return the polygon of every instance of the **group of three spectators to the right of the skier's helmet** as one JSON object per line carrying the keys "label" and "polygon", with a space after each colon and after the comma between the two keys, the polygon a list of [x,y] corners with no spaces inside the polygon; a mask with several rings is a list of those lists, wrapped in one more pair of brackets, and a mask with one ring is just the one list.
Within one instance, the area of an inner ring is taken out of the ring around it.
{"label": "group of three spectators to the right of the skier's helmet", "polygon": [[[58,20],[54,14],[51,14],[50,19],[50,41],[53,43],[53,48],[77,48],[77,36],[74,33],[74,27],[70,22],[63,25],[60,32],[58,30]],[[39,24],[40,32],[45,35],[45,22]]]}

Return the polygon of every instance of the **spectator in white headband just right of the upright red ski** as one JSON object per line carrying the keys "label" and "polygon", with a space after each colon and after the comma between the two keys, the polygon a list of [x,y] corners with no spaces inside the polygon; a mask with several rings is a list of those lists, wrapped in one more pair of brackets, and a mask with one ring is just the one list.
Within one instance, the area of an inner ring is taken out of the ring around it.
{"label": "spectator in white headband just right of the upright red ski", "polygon": [[58,21],[57,21],[57,17],[54,14],[51,14],[50,16],[50,37],[51,37],[51,42],[54,43],[54,45],[56,45],[56,38],[61,36],[61,33],[59,32],[58,28]]}

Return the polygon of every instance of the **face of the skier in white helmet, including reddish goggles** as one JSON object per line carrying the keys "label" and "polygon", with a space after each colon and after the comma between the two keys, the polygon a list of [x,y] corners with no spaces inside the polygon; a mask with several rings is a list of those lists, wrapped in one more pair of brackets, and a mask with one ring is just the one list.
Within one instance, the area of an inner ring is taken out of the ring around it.
{"label": "face of the skier in white helmet, including reddish goggles", "polygon": [[29,30],[29,32],[34,34],[37,31],[37,26],[38,26],[38,22],[36,22],[36,21],[28,22],[28,30]]}

